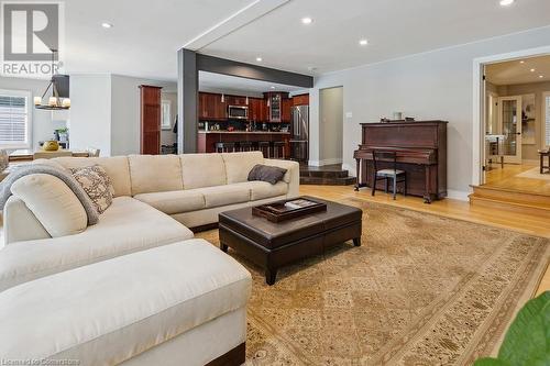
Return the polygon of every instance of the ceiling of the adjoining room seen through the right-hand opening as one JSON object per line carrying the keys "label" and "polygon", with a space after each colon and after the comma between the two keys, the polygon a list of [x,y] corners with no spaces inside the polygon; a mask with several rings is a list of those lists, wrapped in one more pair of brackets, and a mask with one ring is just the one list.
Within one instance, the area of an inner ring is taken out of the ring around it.
{"label": "ceiling of the adjoining room seen through the right-hand opening", "polygon": [[[535,71],[531,71],[531,69],[535,69]],[[494,85],[550,81],[550,56],[487,65],[485,76]]]}

